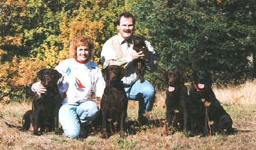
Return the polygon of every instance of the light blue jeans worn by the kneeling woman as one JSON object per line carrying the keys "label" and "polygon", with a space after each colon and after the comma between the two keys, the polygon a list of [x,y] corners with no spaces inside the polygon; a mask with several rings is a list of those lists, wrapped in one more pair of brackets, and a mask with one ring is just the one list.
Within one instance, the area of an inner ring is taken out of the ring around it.
{"label": "light blue jeans worn by the kneeling woman", "polygon": [[81,123],[92,121],[98,115],[98,106],[87,100],[78,106],[63,104],[58,112],[58,119],[66,137],[76,138],[81,132]]}

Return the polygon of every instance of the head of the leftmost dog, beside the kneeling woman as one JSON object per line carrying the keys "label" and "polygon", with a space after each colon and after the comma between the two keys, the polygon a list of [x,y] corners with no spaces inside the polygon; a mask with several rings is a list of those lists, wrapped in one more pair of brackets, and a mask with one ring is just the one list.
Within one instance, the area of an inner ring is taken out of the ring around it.
{"label": "head of the leftmost dog, beside the kneeling woman", "polygon": [[62,75],[54,69],[42,69],[37,73],[37,77],[41,80],[44,87],[56,87],[58,79]]}

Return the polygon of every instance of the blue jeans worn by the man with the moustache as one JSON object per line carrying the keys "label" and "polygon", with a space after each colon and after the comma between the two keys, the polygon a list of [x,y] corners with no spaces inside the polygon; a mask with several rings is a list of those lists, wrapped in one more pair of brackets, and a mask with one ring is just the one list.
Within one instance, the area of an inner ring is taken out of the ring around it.
{"label": "blue jeans worn by the man with the moustache", "polygon": [[145,111],[151,111],[153,103],[155,102],[155,88],[147,80],[144,83],[140,83],[137,80],[131,87],[125,87],[125,92],[128,99],[137,100],[137,94],[142,93],[144,101],[138,103],[139,115],[144,114]]}

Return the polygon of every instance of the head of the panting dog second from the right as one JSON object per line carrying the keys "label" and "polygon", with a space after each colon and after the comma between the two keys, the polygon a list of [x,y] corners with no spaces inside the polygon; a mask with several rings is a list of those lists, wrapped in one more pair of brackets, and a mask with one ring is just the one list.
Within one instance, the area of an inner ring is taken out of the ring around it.
{"label": "head of the panting dog second from the right", "polygon": [[173,92],[175,89],[180,88],[184,84],[183,74],[180,70],[167,71],[162,74],[163,80],[166,81],[168,91]]}

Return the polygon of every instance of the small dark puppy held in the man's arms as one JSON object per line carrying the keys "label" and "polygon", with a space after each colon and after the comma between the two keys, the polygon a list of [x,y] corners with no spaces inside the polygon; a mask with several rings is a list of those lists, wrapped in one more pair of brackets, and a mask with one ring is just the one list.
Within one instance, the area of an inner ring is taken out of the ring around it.
{"label": "small dark puppy held in the man's arms", "polygon": [[141,35],[136,35],[133,39],[133,49],[136,52],[140,52],[143,51],[143,54],[145,55],[145,60],[138,58],[134,60],[134,64],[135,64],[135,72],[138,75],[138,78],[140,79],[141,83],[144,83],[145,79],[144,79],[144,74],[146,71],[146,62],[149,60],[149,51],[148,51],[148,47],[145,44],[145,37],[141,36]]}

